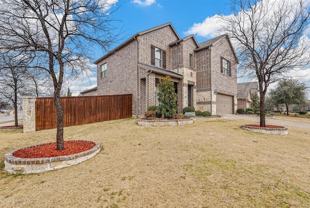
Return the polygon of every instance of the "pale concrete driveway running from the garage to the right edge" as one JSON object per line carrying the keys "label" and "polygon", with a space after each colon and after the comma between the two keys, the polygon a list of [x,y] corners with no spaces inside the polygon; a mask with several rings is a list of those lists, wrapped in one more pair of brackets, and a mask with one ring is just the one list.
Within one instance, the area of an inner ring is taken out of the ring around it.
{"label": "pale concrete driveway running from the garage to the right edge", "polygon": [[[251,121],[260,121],[259,117],[250,117],[250,116],[241,116],[241,115],[226,115],[226,117],[222,118],[226,120],[251,120]],[[274,124],[279,126],[295,126],[295,127],[301,127],[301,128],[308,128],[310,129],[310,123],[301,123],[301,122],[295,122],[295,121],[288,121],[288,120],[279,120],[279,119],[269,119],[266,118],[266,124]]]}

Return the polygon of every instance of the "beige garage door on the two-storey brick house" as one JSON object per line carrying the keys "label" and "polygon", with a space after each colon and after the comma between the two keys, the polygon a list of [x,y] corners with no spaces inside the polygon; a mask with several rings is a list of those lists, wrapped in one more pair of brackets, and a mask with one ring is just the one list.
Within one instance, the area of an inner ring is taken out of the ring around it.
{"label": "beige garage door on the two-storey brick house", "polygon": [[233,96],[217,94],[217,115],[233,114]]}

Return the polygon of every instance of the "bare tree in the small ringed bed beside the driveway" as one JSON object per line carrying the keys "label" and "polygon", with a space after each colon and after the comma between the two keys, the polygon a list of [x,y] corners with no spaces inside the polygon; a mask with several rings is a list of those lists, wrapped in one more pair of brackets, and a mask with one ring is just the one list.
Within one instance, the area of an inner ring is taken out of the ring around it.
{"label": "bare tree in the small ringed bed beside the driveway", "polygon": [[222,15],[223,30],[232,39],[245,74],[258,79],[260,126],[265,126],[264,99],[271,83],[310,63],[305,30],[306,0],[231,0],[232,15]]}

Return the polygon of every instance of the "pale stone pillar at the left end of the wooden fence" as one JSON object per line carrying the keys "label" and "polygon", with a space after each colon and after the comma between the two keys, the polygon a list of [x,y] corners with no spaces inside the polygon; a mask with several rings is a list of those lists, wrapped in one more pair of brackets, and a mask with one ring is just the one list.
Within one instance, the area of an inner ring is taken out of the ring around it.
{"label": "pale stone pillar at the left end of the wooden fence", "polygon": [[35,97],[22,97],[24,133],[35,132]]}

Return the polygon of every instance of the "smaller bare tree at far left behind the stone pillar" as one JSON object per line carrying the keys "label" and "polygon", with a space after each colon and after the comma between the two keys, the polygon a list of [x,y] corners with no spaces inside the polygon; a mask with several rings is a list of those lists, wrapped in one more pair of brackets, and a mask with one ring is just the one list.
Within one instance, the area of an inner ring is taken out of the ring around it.
{"label": "smaller bare tree at far left behind the stone pillar", "polygon": [[15,113],[15,126],[18,126],[17,108],[20,96],[28,95],[25,90],[26,69],[31,61],[28,56],[13,53],[0,55],[0,96],[6,104],[12,104]]}

